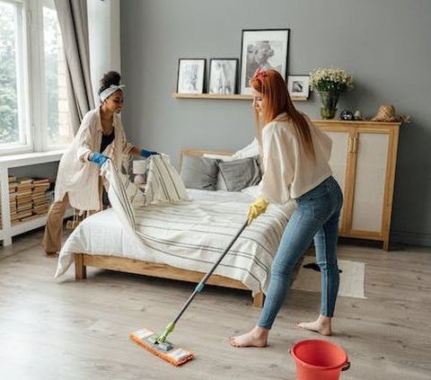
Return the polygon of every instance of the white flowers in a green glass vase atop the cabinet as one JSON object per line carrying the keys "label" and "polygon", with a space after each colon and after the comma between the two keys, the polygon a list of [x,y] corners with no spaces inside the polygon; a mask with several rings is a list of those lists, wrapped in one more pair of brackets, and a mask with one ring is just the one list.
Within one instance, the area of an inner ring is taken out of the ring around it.
{"label": "white flowers in a green glass vase atop the cabinet", "polygon": [[334,119],[339,94],[353,88],[353,77],[340,68],[317,68],[310,73],[310,86],[321,96],[321,118]]}

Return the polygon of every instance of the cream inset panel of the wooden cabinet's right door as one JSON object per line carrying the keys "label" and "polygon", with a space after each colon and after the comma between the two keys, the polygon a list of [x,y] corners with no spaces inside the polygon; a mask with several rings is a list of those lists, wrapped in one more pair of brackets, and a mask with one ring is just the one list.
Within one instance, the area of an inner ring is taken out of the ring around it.
{"label": "cream inset panel of the wooden cabinet's right door", "polygon": [[352,230],[382,234],[389,134],[357,135]]}

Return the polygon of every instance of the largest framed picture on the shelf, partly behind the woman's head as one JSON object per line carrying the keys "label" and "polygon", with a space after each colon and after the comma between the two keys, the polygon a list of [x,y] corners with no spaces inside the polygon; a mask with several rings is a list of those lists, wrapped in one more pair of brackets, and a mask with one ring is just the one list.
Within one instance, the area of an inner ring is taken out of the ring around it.
{"label": "largest framed picture on the shelf, partly behind the woman's head", "polygon": [[274,68],[286,80],[290,29],[242,31],[240,93],[251,94],[249,81],[258,68]]}

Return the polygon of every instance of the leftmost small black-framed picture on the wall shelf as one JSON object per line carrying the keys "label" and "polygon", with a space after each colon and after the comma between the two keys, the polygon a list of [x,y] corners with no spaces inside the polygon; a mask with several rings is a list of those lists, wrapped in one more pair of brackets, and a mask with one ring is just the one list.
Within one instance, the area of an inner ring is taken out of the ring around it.
{"label": "leftmost small black-framed picture on the wall shelf", "polygon": [[177,93],[204,93],[206,63],[207,59],[179,59]]}

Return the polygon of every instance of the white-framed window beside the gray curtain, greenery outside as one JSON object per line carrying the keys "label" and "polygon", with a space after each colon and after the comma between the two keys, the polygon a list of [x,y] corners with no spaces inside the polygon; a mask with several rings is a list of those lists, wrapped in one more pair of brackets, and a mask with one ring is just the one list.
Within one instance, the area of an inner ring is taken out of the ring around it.
{"label": "white-framed window beside the gray curtain, greenery outside", "polygon": [[53,0],[0,0],[0,154],[65,147],[66,60]]}

